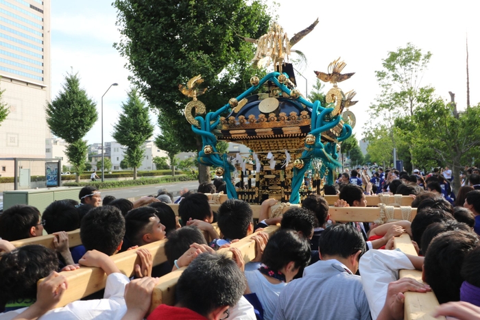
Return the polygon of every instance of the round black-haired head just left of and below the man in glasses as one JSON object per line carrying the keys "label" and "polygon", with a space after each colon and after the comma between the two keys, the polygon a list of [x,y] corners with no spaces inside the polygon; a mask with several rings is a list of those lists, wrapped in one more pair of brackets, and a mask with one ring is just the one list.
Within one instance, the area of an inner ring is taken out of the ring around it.
{"label": "round black-haired head just left of and below the man in glasses", "polygon": [[48,234],[60,231],[72,231],[80,227],[80,215],[70,201],[53,201],[42,215],[45,231]]}

